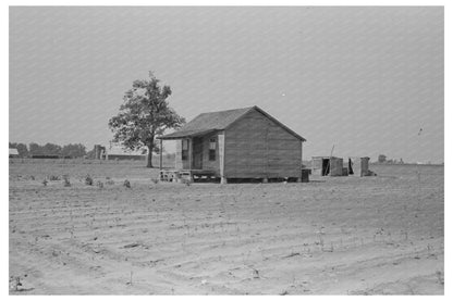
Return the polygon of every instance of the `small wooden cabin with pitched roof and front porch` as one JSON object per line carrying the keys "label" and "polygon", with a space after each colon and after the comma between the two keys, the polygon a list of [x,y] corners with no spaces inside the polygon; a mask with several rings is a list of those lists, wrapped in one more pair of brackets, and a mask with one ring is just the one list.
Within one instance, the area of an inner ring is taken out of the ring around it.
{"label": "small wooden cabin with pitched roof and front porch", "polygon": [[301,180],[306,140],[258,106],[203,113],[158,139],[177,140],[175,170],[191,179]]}

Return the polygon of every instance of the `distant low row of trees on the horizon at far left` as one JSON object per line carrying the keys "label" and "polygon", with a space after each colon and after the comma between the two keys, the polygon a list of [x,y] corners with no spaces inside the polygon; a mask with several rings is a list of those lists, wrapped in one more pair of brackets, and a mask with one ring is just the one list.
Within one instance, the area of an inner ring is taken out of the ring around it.
{"label": "distant low row of trees on the horizon at far left", "polygon": [[63,147],[54,143],[40,146],[32,142],[28,147],[25,143],[10,142],[10,148],[17,149],[19,156],[58,156],[58,158],[82,158],[86,155],[86,148],[82,143],[70,143]]}

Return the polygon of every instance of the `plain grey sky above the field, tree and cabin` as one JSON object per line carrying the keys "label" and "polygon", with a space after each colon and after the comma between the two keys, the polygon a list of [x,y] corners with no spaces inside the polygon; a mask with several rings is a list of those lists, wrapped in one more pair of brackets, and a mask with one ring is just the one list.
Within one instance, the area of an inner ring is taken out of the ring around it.
{"label": "plain grey sky above the field, tree and cabin", "polygon": [[307,139],[305,160],[334,145],[443,162],[443,20],[434,7],[10,8],[10,141],[107,145],[151,70],[187,120],[258,105]]}

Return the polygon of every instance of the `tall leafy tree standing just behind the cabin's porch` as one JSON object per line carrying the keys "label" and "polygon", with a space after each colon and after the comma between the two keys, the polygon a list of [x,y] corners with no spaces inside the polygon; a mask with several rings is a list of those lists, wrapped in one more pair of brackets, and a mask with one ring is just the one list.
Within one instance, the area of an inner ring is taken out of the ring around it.
{"label": "tall leafy tree standing just behind the cabin's porch", "polygon": [[168,128],[177,128],[185,120],[169,106],[169,86],[161,87],[159,79],[149,72],[149,79],[138,79],[124,95],[120,112],[109,121],[113,142],[121,142],[131,150],[148,148],[147,167],[152,167],[152,151],[158,151],[155,138]]}

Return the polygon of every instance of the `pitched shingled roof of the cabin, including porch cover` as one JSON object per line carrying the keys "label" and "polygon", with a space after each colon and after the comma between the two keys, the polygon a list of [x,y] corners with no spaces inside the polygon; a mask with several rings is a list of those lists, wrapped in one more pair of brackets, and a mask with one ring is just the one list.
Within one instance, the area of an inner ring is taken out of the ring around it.
{"label": "pitched shingled roof of the cabin, including porch cover", "polygon": [[189,138],[194,136],[206,135],[211,131],[222,130],[232,125],[238,118],[250,112],[252,110],[257,110],[259,113],[264,114],[281,127],[283,127],[286,131],[291,135],[295,136],[296,138],[301,139],[302,141],[306,141],[303,137],[297,135],[295,131],[291,130],[289,127],[280,123],[278,120],[270,116],[268,113],[259,109],[258,106],[249,106],[243,109],[234,109],[234,110],[226,110],[226,111],[219,111],[219,112],[209,112],[203,113],[192,120],[189,123],[185,124],[182,128],[177,131],[163,135],[158,137],[158,139],[162,140],[171,140],[171,139],[181,139],[181,138]]}

